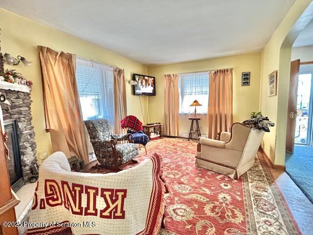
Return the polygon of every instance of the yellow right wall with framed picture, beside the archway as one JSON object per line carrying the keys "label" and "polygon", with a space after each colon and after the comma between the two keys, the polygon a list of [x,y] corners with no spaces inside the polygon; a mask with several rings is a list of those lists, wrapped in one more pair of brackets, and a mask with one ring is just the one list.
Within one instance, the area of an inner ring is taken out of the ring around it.
{"label": "yellow right wall with framed picture, beside the archway", "polygon": [[[285,164],[291,45],[295,40],[286,40],[286,37],[311,1],[296,0],[262,50],[260,110],[275,123],[264,136],[263,149],[274,164]],[[278,95],[268,97],[268,74],[275,70],[278,71]]]}

